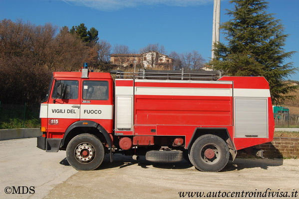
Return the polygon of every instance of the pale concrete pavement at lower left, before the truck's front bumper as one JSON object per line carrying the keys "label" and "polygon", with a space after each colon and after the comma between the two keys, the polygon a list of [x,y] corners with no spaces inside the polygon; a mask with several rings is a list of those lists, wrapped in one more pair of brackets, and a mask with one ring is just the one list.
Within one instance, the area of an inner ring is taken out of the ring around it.
{"label": "pale concrete pavement at lower left, before the truck's front bumper", "polygon": [[[43,198],[56,184],[76,173],[59,162],[65,151],[45,152],[36,138],[0,141],[0,198]],[[6,186],[34,186],[34,194],[6,194]]]}

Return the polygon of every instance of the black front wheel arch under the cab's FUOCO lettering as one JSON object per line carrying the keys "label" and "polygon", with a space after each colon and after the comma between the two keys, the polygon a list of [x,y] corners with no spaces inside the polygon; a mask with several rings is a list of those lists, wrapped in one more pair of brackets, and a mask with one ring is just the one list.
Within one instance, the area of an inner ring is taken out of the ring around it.
{"label": "black front wheel arch under the cab's FUOCO lettering", "polygon": [[112,148],[112,140],[107,130],[99,123],[90,120],[76,121],[68,126],[63,135],[60,148],[66,149],[68,142],[76,135],[82,133],[93,134],[100,138],[100,140],[105,141],[108,144],[109,148]]}

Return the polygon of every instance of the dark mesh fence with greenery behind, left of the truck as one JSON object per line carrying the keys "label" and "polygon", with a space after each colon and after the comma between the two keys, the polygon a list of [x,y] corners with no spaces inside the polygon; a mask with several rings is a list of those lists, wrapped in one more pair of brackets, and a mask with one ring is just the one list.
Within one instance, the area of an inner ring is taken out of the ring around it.
{"label": "dark mesh fence with greenery behind, left of the truck", "polygon": [[3,104],[0,102],[0,128],[34,128],[40,126],[40,105]]}

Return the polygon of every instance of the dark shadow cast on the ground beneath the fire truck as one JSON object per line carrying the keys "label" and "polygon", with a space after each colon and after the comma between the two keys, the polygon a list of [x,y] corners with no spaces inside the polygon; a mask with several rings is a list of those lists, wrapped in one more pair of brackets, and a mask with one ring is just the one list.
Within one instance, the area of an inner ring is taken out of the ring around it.
{"label": "dark shadow cast on the ground beneath the fire truck", "polygon": [[[65,166],[70,166],[66,157],[62,159],[59,163]],[[137,164],[142,168],[149,168],[149,166],[153,166],[155,168],[164,168],[164,169],[186,169],[193,166],[185,159],[180,162],[159,163],[159,162],[147,161],[145,159],[145,156],[140,156],[139,160],[134,160],[131,158],[131,156],[115,154],[113,155],[113,162],[110,162],[109,155],[106,155],[104,157],[102,164],[95,170],[102,170],[102,169],[115,168],[115,167],[124,168],[134,164]],[[283,165],[282,158],[277,158],[277,159],[236,158],[234,162],[229,161],[228,164],[220,172],[242,170],[245,168],[268,169],[269,166],[280,166],[280,165]]]}

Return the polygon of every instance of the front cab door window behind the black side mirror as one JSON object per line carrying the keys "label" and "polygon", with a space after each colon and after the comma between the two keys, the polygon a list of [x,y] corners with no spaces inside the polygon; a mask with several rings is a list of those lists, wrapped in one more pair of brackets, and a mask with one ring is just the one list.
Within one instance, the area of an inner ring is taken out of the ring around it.
{"label": "front cab door window behind the black side mirror", "polygon": [[[58,86],[62,87],[63,94],[60,96],[57,93]],[[79,82],[77,80],[59,80],[55,81],[53,88],[53,99],[77,99],[79,90]]]}

